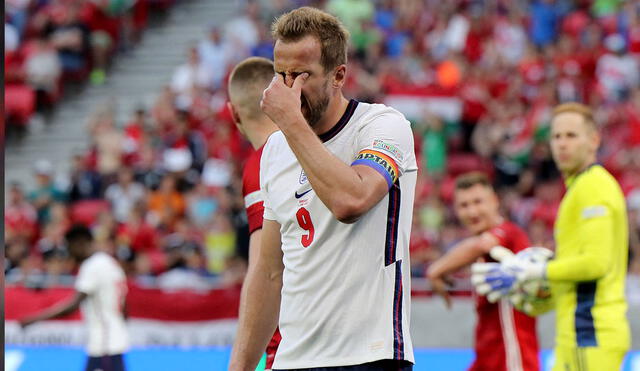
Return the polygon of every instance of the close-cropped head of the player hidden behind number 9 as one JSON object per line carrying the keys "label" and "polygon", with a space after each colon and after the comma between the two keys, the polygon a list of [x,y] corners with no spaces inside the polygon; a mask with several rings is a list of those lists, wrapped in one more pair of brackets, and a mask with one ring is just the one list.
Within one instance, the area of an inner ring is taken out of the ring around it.
{"label": "close-cropped head of the player hidden behind number 9", "polygon": [[273,62],[250,57],[238,63],[229,75],[229,100],[236,111],[248,120],[263,115],[260,109],[262,92],[273,79]]}

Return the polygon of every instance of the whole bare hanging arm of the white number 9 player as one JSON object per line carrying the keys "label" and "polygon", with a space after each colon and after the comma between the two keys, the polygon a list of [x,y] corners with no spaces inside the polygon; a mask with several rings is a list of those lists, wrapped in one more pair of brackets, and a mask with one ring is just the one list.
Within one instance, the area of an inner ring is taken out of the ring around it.
{"label": "whole bare hanging arm of the white number 9 player", "polygon": [[256,260],[249,265],[242,286],[238,333],[229,370],[253,371],[278,325],[284,270],[280,224],[265,219],[260,239]]}

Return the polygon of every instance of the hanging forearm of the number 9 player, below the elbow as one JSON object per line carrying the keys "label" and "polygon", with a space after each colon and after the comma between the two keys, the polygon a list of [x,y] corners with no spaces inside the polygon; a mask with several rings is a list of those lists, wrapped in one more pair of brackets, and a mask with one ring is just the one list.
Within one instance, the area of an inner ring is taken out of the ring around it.
{"label": "hanging forearm of the number 9 player, below the elbow", "polygon": [[278,325],[282,276],[260,266],[250,269],[242,287],[238,333],[229,370],[255,370]]}

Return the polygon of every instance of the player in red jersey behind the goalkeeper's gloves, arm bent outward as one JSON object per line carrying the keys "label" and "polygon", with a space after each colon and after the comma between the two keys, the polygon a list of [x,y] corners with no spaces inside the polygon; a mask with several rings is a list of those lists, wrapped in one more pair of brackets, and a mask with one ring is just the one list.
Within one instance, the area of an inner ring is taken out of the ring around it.
{"label": "player in red jersey behind the goalkeeper's gloves, arm bent outward", "polygon": [[[513,253],[529,247],[525,232],[500,215],[498,197],[486,175],[472,172],[458,177],[454,209],[474,236],[459,242],[427,273],[433,291],[445,299],[448,307],[448,274],[479,259],[492,261],[489,251],[494,246],[506,247]],[[484,296],[477,297],[476,311],[476,359],[469,370],[540,369],[535,318],[515,310],[507,300],[492,304]]]}

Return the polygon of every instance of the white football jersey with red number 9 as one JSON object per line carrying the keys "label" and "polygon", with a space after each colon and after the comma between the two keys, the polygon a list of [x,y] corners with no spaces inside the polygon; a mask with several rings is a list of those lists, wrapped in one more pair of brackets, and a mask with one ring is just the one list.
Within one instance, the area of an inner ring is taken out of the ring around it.
{"label": "white football jersey with red number 9", "polygon": [[417,164],[404,116],[355,100],[320,136],[347,164],[371,166],[389,193],[356,223],[317,197],[282,132],[260,163],[264,218],[281,225],[284,275],[274,369],[413,362],[409,235]]}

